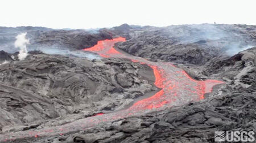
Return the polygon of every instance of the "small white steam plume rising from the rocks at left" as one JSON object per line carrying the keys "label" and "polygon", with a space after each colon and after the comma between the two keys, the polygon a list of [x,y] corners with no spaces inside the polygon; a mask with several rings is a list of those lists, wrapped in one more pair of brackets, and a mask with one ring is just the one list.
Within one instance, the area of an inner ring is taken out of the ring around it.
{"label": "small white steam plume rising from the rocks at left", "polygon": [[26,38],[26,34],[27,32],[18,34],[18,36],[16,36],[16,41],[14,43],[14,46],[19,48],[19,60],[25,59],[28,55],[27,45],[30,44],[30,41]]}

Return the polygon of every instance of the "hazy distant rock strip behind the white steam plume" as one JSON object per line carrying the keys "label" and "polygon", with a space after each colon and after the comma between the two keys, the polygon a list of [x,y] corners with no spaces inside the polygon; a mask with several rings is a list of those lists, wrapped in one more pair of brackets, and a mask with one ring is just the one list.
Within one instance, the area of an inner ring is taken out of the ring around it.
{"label": "hazy distant rock strip behind the white steam plume", "polygon": [[42,27],[0,27],[0,50],[8,53],[19,51],[14,47],[15,37],[23,32],[27,32],[30,40],[28,50],[44,49],[69,49],[81,50],[97,44],[97,41],[111,39],[112,33],[106,29],[98,29],[96,32],[84,29],[49,29]]}

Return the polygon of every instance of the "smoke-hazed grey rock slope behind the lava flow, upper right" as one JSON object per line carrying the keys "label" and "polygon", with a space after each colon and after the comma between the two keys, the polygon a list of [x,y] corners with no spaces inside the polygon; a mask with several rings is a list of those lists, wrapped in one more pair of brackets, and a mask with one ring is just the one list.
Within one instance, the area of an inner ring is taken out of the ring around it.
{"label": "smoke-hazed grey rock slope behind the lava flow, upper right", "polygon": [[215,57],[234,55],[246,47],[255,46],[255,34],[256,27],[247,25],[195,24],[130,28],[129,32],[119,34],[129,40],[117,47],[154,61],[202,65],[212,62],[210,60]]}

